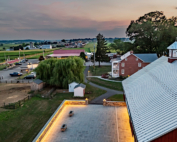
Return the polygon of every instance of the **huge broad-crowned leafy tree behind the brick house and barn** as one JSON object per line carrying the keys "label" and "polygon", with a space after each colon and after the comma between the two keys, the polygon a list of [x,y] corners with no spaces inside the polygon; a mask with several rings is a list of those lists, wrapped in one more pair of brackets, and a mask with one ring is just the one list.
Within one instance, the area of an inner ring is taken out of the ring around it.
{"label": "huge broad-crowned leafy tree behind the brick house and barn", "polygon": [[177,35],[176,23],[176,17],[167,19],[161,11],[150,12],[131,21],[126,34],[130,40],[134,40],[138,52],[156,52],[161,55],[174,42]]}

